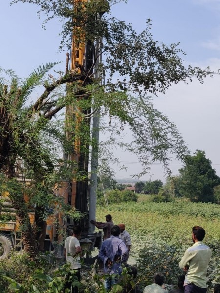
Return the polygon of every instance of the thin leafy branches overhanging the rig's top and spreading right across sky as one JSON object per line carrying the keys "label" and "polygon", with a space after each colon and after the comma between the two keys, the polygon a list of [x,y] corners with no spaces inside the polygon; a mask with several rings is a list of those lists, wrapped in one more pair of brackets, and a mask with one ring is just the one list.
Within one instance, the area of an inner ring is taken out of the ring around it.
{"label": "thin leafy branches overhanging the rig's top and spreading right across sky", "polygon": [[[77,1],[74,9],[73,2],[69,0],[12,1],[18,2],[37,5],[38,15],[42,13],[47,16],[43,26],[52,18],[61,22],[62,49],[65,46],[71,47],[72,28],[77,28],[76,42],[101,42],[105,63],[96,67],[98,56],[95,56],[87,74],[93,82],[92,69],[95,67],[106,74],[106,85],[100,87],[99,84],[92,90],[95,108],[101,107],[102,114],[109,115],[110,126],[114,126],[117,135],[127,124],[133,136],[129,144],[123,140],[118,142],[113,135],[107,143],[115,145],[117,141],[119,146],[137,154],[143,164],[139,175],[148,172],[150,164],[155,161],[161,161],[166,172],[170,174],[169,153],[175,152],[182,159],[187,153],[187,147],[176,126],[154,109],[149,93],[164,93],[172,84],[180,81],[187,84],[193,77],[197,77],[202,83],[203,77],[211,74],[210,69],[207,67],[201,70],[190,65],[184,67],[179,55],[185,53],[178,48],[178,44],[167,46],[154,41],[150,32],[150,19],[146,21],[146,29],[137,34],[131,24],[127,25],[112,17],[111,6],[121,0]],[[102,17],[97,18],[97,14]],[[82,84],[85,85],[85,82]],[[102,147],[99,150],[102,152]]]}

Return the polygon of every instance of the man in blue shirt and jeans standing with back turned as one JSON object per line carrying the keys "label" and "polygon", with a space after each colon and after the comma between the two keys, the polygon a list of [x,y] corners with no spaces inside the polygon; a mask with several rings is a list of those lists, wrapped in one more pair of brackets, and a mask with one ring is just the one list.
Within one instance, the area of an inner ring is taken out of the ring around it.
{"label": "man in blue shirt and jeans standing with back turned", "polygon": [[[107,290],[118,281],[115,274],[121,274],[122,263],[126,263],[128,257],[128,249],[120,235],[120,227],[114,225],[111,229],[111,237],[103,241],[99,250],[99,258],[104,263],[104,273],[106,275],[104,286]],[[108,276],[107,276],[108,275]]]}

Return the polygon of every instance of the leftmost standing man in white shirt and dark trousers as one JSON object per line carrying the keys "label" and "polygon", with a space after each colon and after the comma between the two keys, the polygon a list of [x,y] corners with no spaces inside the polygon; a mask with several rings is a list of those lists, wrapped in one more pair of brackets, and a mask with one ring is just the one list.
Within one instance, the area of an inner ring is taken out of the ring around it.
{"label": "leftmost standing man in white shirt and dark trousers", "polygon": [[[66,288],[71,290],[72,287],[72,281],[74,280],[74,277],[80,281],[80,269],[81,269],[81,264],[80,264],[80,256],[79,254],[82,252],[80,243],[78,238],[80,237],[81,234],[81,227],[80,226],[74,226],[73,227],[73,232],[72,235],[66,238],[65,241],[65,246],[64,246],[64,256],[66,258],[66,263],[69,263],[71,265],[71,269],[76,271],[74,273],[73,279],[69,282],[69,278],[71,274],[69,273],[66,277],[67,282],[64,287],[64,291]],[[76,279],[75,278],[75,279]],[[78,293],[78,287],[75,286],[72,288],[73,293]]]}

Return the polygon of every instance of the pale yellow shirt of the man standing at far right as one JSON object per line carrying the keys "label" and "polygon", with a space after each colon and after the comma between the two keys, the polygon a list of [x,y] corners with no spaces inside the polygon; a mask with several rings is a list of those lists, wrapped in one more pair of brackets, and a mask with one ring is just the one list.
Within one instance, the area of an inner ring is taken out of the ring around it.
{"label": "pale yellow shirt of the man standing at far right", "polygon": [[206,273],[211,256],[211,249],[202,241],[194,243],[186,250],[179,263],[180,268],[189,265],[184,286],[193,283],[200,288],[206,288]]}

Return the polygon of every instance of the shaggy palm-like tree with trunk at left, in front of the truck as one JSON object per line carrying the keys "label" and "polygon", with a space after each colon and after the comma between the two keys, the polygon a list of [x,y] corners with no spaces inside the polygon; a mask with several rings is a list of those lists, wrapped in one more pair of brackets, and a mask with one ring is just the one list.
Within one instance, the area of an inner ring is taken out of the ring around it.
{"label": "shaggy palm-like tree with trunk at left, in front of the truck", "polygon": [[[24,248],[32,258],[37,255],[38,249],[23,194],[32,195],[30,202],[36,205],[35,218],[39,219],[36,224],[42,230],[44,208],[50,201],[57,201],[52,192],[55,182],[73,169],[62,167],[65,162],[60,159],[60,151],[69,151],[72,147],[72,142],[65,135],[64,122],[53,121],[52,118],[65,105],[76,102],[75,94],[61,94],[62,84],[78,82],[82,75],[70,73],[57,80],[53,77],[44,79],[56,64],[40,66],[21,83],[15,75],[11,84],[0,80],[0,188],[10,194],[19,224],[23,227]],[[42,95],[30,102],[28,99],[32,91],[40,85],[44,86]],[[22,166],[19,163],[21,160]],[[33,180],[32,183],[27,187],[17,182],[16,172],[25,172],[25,176]]]}

